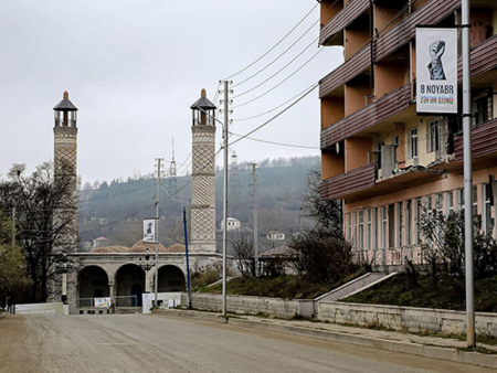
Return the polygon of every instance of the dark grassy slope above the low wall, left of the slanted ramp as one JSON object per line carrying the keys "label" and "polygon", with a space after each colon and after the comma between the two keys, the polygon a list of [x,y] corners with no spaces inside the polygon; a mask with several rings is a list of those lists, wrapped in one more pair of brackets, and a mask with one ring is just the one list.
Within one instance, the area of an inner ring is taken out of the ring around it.
{"label": "dark grassy slope above the low wall, left of the slanted ramp", "polygon": [[[279,275],[266,277],[234,278],[226,283],[229,295],[272,297],[284,299],[313,299],[335,289],[351,279],[363,275],[360,270],[337,283],[314,284],[308,279],[295,275]],[[222,292],[222,284],[211,287],[199,287],[199,292]]]}

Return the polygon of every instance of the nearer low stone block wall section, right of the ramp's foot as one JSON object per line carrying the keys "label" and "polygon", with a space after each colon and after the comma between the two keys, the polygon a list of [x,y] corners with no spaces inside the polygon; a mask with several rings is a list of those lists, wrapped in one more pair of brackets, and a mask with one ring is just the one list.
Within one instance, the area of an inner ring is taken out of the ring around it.
{"label": "nearer low stone block wall section, right of the ramp's foot", "polygon": [[[317,318],[394,330],[466,333],[466,313],[451,310],[322,301]],[[476,313],[476,333],[497,337],[497,313]]]}

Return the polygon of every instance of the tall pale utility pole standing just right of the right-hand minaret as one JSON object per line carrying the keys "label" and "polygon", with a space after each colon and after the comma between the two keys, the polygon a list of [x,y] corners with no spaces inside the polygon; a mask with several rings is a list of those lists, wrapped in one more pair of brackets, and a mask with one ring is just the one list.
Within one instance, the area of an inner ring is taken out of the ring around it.
{"label": "tall pale utility pole standing just right of the right-hand minaret", "polygon": [[224,139],[224,203],[223,203],[223,316],[226,317],[226,246],[228,246],[228,129],[230,126],[230,92],[229,82],[224,81],[224,126],[223,126],[223,139]]}

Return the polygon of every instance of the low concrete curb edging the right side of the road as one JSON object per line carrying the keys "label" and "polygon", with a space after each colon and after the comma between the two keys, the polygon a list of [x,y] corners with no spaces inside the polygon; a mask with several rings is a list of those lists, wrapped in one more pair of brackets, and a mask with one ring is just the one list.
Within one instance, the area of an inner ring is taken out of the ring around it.
{"label": "low concrete curb edging the right side of the road", "polygon": [[409,353],[432,359],[442,359],[457,363],[479,365],[485,367],[497,367],[497,355],[491,354],[487,355],[479,352],[459,351],[454,348],[442,348],[420,343],[404,343],[401,341],[392,341],[364,335],[340,333],[330,330],[308,329],[298,326],[282,326],[272,323],[269,321],[265,321],[264,319],[261,319],[261,321],[258,321],[258,320],[246,320],[241,317],[230,317],[226,320],[225,318],[219,315],[200,313],[197,311],[159,310],[156,311],[155,313],[209,320],[221,323],[228,322],[229,324],[237,327],[278,331],[289,334],[311,337],[329,341],[363,345],[374,349]]}

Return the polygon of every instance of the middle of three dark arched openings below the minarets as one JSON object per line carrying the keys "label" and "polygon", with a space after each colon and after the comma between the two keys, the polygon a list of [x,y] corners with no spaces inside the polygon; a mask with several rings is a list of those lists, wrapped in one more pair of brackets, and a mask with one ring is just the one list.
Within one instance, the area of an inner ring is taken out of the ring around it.
{"label": "middle of three dark arched openings below the minarets", "polygon": [[144,269],[133,263],[125,264],[116,270],[114,284],[116,297],[136,296],[136,302],[133,301],[129,306],[141,306],[141,295],[145,292]]}

